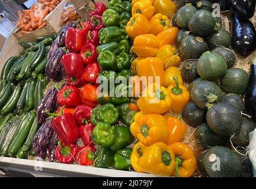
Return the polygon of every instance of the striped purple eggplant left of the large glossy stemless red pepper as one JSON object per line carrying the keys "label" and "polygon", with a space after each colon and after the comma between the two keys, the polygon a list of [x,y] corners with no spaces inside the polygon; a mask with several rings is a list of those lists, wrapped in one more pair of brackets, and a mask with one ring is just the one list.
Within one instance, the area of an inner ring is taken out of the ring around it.
{"label": "striped purple eggplant left of the large glossy stemless red pepper", "polygon": [[46,64],[46,75],[49,79],[53,79],[55,81],[60,77],[61,64],[60,59],[65,54],[62,48],[58,48],[56,52],[53,52],[52,57],[47,60]]}

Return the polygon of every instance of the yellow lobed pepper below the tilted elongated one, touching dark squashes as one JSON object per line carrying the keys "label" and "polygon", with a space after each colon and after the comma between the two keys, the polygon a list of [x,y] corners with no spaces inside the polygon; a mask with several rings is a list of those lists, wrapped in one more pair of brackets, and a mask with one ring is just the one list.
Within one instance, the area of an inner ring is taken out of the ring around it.
{"label": "yellow lobed pepper below the tilted elongated one, touching dark squashes", "polygon": [[164,45],[158,50],[156,58],[161,58],[164,63],[164,69],[170,66],[178,67],[181,63],[181,57],[178,56],[176,48],[172,45]]}

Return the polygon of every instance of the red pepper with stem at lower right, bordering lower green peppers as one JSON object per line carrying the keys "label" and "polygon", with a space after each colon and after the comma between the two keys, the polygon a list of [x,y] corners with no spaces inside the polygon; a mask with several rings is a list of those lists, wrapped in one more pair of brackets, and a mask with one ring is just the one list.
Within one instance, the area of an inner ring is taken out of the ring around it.
{"label": "red pepper with stem at lower right, bordering lower green peppers", "polygon": [[84,125],[87,119],[91,118],[91,112],[93,107],[88,105],[80,105],[75,108],[75,119],[78,125]]}

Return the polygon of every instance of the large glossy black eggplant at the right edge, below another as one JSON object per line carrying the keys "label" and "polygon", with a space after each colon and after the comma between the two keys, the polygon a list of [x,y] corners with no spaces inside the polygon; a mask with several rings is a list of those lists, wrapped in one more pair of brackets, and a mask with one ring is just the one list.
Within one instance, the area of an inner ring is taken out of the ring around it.
{"label": "large glossy black eggplant at the right edge, below another", "polygon": [[256,31],[251,21],[233,14],[232,48],[242,56],[248,56],[256,48]]}

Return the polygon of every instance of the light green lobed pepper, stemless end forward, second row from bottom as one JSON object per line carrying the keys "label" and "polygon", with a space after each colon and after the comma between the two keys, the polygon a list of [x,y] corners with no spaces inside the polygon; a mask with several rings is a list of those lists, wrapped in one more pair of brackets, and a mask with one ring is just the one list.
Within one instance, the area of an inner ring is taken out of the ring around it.
{"label": "light green lobed pepper, stemless end forward, second row from bottom", "polygon": [[91,133],[92,142],[94,144],[109,147],[115,142],[116,128],[110,123],[98,122]]}

